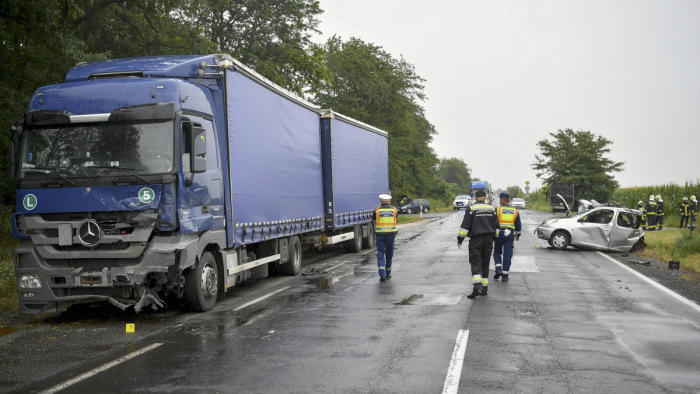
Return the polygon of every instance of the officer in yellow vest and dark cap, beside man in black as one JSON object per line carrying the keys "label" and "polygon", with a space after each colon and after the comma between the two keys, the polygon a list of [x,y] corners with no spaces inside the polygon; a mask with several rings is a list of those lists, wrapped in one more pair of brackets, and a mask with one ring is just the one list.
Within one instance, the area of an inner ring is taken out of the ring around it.
{"label": "officer in yellow vest and dark cap, beside man in black", "polygon": [[[514,241],[520,240],[520,215],[518,210],[510,205],[508,193],[501,193],[498,197],[501,199],[501,206],[496,210],[496,214],[501,230],[493,245],[493,262],[496,264],[496,273],[493,275],[493,279],[503,276],[502,281],[507,282],[513,258],[513,244]],[[503,255],[503,263],[501,263],[501,255]]]}

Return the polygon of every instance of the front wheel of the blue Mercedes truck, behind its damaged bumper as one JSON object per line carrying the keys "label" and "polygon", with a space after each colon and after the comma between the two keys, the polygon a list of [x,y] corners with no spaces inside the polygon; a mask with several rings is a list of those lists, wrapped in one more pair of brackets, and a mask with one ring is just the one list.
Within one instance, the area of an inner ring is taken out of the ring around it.
{"label": "front wheel of the blue Mercedes truck, behind its damaged bumper", "polygon": [[219,269],[211,252],[204,252],[197,264],[185,272],[185,303],[188,309],[206,312],[214,308],[219,293]]}

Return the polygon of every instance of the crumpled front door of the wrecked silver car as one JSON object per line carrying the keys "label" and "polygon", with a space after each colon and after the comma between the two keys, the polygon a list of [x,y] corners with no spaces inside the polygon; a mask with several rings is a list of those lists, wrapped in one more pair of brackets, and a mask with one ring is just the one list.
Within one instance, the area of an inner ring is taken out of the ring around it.
{"label": "crumpled front door of the wrecked silver car", "polygon": [[571,244],[597,250],[607,250],[613,232],[615,211],[607,208],[592,210],[577,221],[572,230]]}

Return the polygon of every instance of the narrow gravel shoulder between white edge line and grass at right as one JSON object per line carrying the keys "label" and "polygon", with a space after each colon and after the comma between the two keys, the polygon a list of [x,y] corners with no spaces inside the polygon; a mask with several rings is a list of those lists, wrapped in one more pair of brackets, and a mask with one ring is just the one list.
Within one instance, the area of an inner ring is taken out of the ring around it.
{"label": "narrow gravel shoulder between white edge line and grass at right", "polygon": [[610,253],[608,256],[668,287],[694,303],[700,304],[700,274],[683,271],[682,261],[681,269],[669,269],[668,262],[640,258],[635,254]]}

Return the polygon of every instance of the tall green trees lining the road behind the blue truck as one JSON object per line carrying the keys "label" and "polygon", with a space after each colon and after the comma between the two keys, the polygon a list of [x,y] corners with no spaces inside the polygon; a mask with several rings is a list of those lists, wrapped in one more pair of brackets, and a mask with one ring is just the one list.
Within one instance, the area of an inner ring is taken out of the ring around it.
{"label": "tall green trees lining the road behind the blue truck", "polygon": [[312,42],[322,12],[316,0],[3,1],[0,200],[14,201],[10,127],[38,87],[62,82],[80,62],[210,53],[228,53],[323,108],[387,131],[391,192],[450,199],[468,185],[469,170],[456,159],[441,170],[429,146],[436,130],[421,105],[423,78],[358,38]]}

